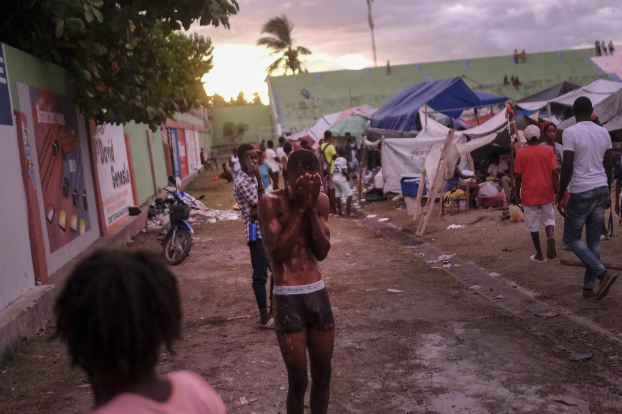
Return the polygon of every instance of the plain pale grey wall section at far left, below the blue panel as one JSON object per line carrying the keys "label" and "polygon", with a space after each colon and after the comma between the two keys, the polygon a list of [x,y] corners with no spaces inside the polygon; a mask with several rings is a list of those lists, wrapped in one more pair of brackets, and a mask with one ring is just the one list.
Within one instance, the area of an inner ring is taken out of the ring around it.
{"label": "plain pale grey wall section at far left, below the blue panel", "polygon": [[[2,45],[0,45],[2,47]],[[0,64],[0,67],[4,65]],[[6,79],[12,73],[0,75]],[[6,88],[0,84],[0,88]],[[4,90],[6,92],[7,89]],[[6,95],[5,95],[6,96]],[[10,102],[10,101],[9,101]],[[2,102],[6,104],[6,102]],[[35,286],[34,269],[30,252],[28,210],[22,180],[17,130],[12,117],[12,107],[2,111],[11,114],[11,125],[0,125],[2,151],[0,151],[0,309]]]}

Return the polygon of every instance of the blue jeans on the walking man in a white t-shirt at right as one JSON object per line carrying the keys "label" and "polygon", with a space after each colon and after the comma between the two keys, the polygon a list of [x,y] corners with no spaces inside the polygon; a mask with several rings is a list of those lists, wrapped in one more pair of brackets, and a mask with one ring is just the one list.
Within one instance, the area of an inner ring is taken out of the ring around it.
{"label": "blue jeans on the walking man in a white t-shirt at right", "polygon": [[[605,266],[600,263],[600,233],[608,201],[609,189],[603,186],[570,194],[566,205],[564,243],[585,264],[583,289],[594,289],[596,279],[605,272]],[[581,240],[584,225],[587,246]]]}

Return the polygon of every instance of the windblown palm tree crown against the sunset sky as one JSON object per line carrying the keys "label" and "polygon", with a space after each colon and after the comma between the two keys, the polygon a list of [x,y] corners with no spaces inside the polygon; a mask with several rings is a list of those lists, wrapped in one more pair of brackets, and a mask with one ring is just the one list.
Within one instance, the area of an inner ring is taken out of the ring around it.
{"label": "windblown palm tree crown against the sunset sky", "polygon": [[261,29],[262,34],[266,33],[272,36],[259,38],[257,45],[265,46],[271,50],[271,56],[281,55],[268,66],[266,70],[268,74],[272,74],[279,68],[284,68],[286,74],[289,70],[292,71],[292,74],[300,73],[300,71],[307,72],[307,68],[300,61],[299,56],[310,55],[311,51],[302,46],[294,47],[293,30],[294,24],[285,15],[272,17]]}

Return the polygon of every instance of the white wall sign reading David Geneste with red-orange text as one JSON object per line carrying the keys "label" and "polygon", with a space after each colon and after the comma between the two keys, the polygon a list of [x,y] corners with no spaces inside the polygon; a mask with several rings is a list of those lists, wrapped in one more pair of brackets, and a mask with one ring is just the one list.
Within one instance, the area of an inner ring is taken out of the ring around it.
{"label": "white wall sign reading David Geneste with red-orange text", "polygon": [[91,137],[106,230],[111,232],[129,217],[129,206],[134,204],[123,126],[91,122]]}

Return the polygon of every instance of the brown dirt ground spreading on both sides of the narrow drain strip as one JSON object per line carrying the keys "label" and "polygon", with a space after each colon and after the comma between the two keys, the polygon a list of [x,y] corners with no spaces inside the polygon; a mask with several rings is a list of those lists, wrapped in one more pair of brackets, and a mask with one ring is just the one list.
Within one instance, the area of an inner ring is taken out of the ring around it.
{"label": "brown dirt ground spreading on both sides of the narrow drain strip", "polygon": [[[208,207],[234,204],[231,184],[206,174],[192,192],[207,194]],[[406,210],[387,203],[366,208],[407,225]],[[499,223],[498,214],[483,212],[453,220],[480,215],[486,218],[462,230],[444,230],[452,218],[432,220],[425,238],[537,290],[544,300],[615,325],[606,315],[620,300],[615,288],[603,302],[582,302],[580,269],[529,262],[531,242],[522,224]],[[620,377],[593,361],[570,362],[563,349],[531,333],[522,320],[446,274],[428,271],[412,250],[361,221],[331,217],[330,227],[332,249],[322,263],[337,323],[330,412],[622,412]],[[230,412],[285,413],[285,367],[274,332],[258,327],[241,221],[206,223],[195,232],[192,256],[174,268],[183,341],[174,354],[162,354],[158,370],[198,372]],[[154,233],[139,235],[129,248],[161,254]],[[606,254],[613,255],[607,249],[605,243]],[[229,320],[234,317],[242,318]],[[0,412],[83,413],[92,407],[88,378],[69,366],[62,344],[49,341],[52,331],[50,324],[5,359]],[[256,401],[242,404],[244,396]]]}

